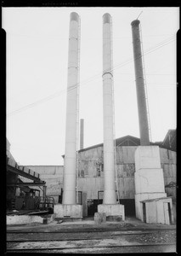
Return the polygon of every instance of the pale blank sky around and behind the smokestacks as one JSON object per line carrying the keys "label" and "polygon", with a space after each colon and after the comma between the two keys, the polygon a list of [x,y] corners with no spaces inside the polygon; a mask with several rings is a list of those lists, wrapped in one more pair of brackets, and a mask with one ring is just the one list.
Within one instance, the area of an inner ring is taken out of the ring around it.
{"label": "pale blank sky around and behind the smokestacks", "polygon": [[81,18],[84,148],[103,143],[102,15],[110,13],[116,138],[139,137],[131,22],[139,16],[152,142],[176,128],[178,8],[3,8],[7,138],[20,165],[63,165],[69,22]]}

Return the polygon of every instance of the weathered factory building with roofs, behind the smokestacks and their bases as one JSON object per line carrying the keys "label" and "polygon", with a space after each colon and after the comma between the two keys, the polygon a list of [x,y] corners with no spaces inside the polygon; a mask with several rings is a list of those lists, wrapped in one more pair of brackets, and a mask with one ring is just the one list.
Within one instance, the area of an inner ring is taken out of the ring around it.
{"label": "weathered factory building with roofs, behind the smokestacks and their bases", "polygon": [[[135,216],[135,160],[134,153],[140,145],[138,137],[126,136],[116,139],[116,170],[119,199],[125,206],[125,215]],[[163,142],[158,145],[163,169],[164,185],[167,196],[173,196],[173,211],[176,207],[176,131],[169,130]],[[63,155],[64,157],[64,155]],[[103,201],[104,195],[104,162],[103,143],[78,151],[79,202],[82,194],[86,194],[88,216],[97,212],[97,206]],[[46,182],[46,193],[54,197],[55,203],[62,202],[64,166],[26,166],[40,174]],[[118,198],[116,191],[116,198]],[[175,214],[174,214],[175,215]]]}

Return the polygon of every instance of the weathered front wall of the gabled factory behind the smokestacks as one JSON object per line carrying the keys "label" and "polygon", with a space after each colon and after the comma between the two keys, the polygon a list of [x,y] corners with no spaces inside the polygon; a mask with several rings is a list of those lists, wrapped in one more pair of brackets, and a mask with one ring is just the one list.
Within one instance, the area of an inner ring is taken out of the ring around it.
{"label": "weathered front wall of the gabled factory behind the smokestacks", "polygon": [[[134,152],[137,146],[116,147],[117,183],[120,199],[134,199]],[[176,183],[176,152],[160,148],[161,168],[165,185]],[[103,148],[90,148],[79,153],[78,188],[87,191],[88,199],[102,199],[104,190]],[[166,188],[168,196],[176,197],[176,189]]]}

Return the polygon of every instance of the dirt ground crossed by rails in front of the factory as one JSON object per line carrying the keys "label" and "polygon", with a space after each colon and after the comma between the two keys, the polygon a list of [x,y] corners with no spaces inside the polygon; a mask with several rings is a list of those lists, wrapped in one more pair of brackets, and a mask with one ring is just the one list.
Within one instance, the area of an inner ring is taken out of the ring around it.
{"label": "dirt ground crossed by rails in front of the factory", "polygon": [[9,225],[7,248],[14,253],[173,253],[176,225],[145,224],[137,218]]}

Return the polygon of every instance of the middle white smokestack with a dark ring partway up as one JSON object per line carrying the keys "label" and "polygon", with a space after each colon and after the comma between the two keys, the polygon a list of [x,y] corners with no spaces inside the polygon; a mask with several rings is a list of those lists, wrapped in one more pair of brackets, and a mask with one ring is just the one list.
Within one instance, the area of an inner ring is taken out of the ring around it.
{"label": "middle white smokestack with a dark ring partway up", "polygon": [[113,137],[113,74],[111,16],[103,15],[103,113],[104,113],[104,177],[103,204],[116,204]]}

